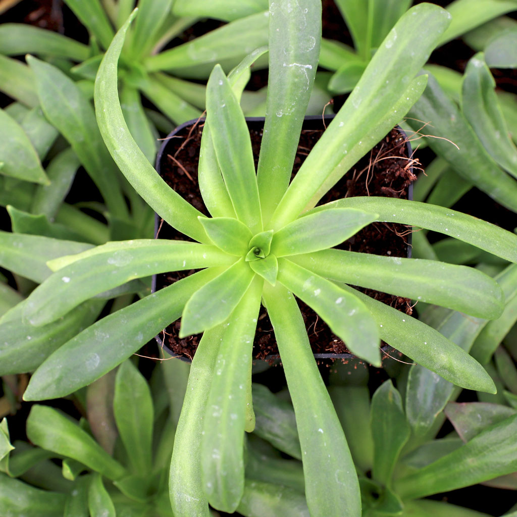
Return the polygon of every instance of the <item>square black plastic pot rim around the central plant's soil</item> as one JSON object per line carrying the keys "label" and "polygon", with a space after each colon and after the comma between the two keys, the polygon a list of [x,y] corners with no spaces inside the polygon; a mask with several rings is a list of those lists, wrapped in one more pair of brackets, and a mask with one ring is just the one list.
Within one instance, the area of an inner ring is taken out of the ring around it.
{"label": "square black plastic pot rim around the central plant's soil", "polygon": [[[309,129],[309,130],[311,130],[311,129],[317,129],[317,130],[324,129],[326,126],[328,126],[328,124],[330,123],[330,121],[333,118],[334,118],[334,115],[325,115],[323,118],[320,117],[320,116],[307,116],[307,117],[305,117],[305,121],[303,123],[303,129]],[[246,120],[248,122],[248,127],[250,129],[261,130],[264,127],[264,117],[247,117]],[[204,119],[201,119],[201,123],[203,121],[204,121]],[[325,121],[325,126],[323,126],[323,121]],[[164,142],[163,142],[163,144],[160,147],[160,150],[158,152],[158,156],[156,157],[156,170],[158,171],[158,174],[162,175],[162,173],[161,173],[161,170],[162,170],[162,160],[164,159],[164,157],[166,157],[168,154],[170,154],[170,151],[168,151],[168,147],[170,146],[170,142],[173,139],[173,137],[178,132],[180,132],[181,130],[183,130],[183,129],[187,128],[187,127],[191,127],[194,124],[199,123],[199,122],[200,122],[199,120],[189,120],[188,122],[185,122],[184,124],[181,124],[180,126],[178,126],[174,131],[172,131],[168,135],[168,138],[166,138],[164,140]],[[400,127],[398,127],[397,129],[400,131],[400,133],[406,139],[407,135],[405,134],[405,132]],[[407,147],[407,155],[411,156],[413,151],[412,151],[411,145],[407,141],[406,141],[406,147]],[[410,166],[410,170],[413,170],[413,166]],[[408,187],[408,199],[410,199],[410,200],[413,199],[413,185],[409,185],[409,187]],[[155,236],[158,234],[161,222],[162,221],[161,221],[160,216],[158,216],[158,214],[155,214]],[[408,242],[408,244],[407,244],[407,256],[410,257],[411,256],[411,235],[410,234],[408,236],[408,241],[407,242]],[[151,289],[152,289],[152,292],[156,291],[156,275],[153,276],[153,282],[152,282]],[[160,348],[165,350],[171,356],[179,357],[180,359],[183,359],[185,361],[190,362],[190,359],[188,359],[187,357],[178,356],[178,354],[173,352],[164,343],[164,340],[162,340],[160,335],[156,336],[155,339],[156,339],[158,345],[160,346]],[[391,346],[384,346],[382,349],[387,354],[390,354],[391,353],[390,351],[394,351],[394,348],[392,348]],[[357,360],[360,360],[359,358],[357,358],[353,354],[314,354],[314,358],[315,359],[344,359],[344,360],[357,359]],[[266,360],[268,362],[279,361],[280,360],[280,356],[279,355],[269,355],[264,360]]]}

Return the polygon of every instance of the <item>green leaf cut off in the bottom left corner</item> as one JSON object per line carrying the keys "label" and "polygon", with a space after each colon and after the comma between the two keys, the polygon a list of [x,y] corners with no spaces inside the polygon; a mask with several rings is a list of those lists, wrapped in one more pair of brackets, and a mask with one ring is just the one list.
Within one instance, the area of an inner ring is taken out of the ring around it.
{"label": "green leaf cut off in the bottom left corner", "polygon": [[62,517],[65,499],[65,494],[40,490],[0,473],[0,506],[7,515]]}

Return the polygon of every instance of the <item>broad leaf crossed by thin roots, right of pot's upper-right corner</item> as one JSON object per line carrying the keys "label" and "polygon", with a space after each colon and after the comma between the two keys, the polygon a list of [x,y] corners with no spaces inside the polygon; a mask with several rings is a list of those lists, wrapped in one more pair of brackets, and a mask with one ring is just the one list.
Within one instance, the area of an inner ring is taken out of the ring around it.
{"label": "broad leaf crossed by thin roots, right of pot's upper-right corner", "polygon": [[439,138],[428,138],[429,147],[447,160],[455,172],[499,204],[517,211],[517,182],[487,153],[458,106],[432,75],[408,116],[407,123],[416,131],[422,126],[421,120],[430,123],[425,132]]}

